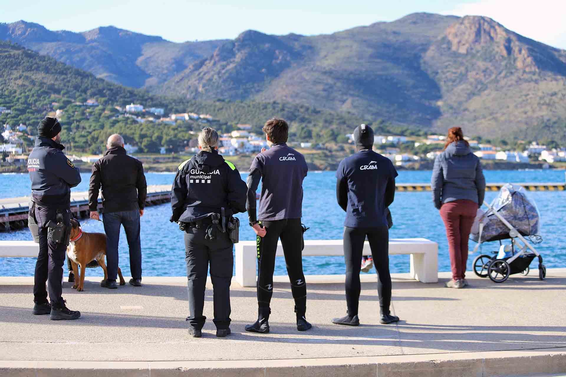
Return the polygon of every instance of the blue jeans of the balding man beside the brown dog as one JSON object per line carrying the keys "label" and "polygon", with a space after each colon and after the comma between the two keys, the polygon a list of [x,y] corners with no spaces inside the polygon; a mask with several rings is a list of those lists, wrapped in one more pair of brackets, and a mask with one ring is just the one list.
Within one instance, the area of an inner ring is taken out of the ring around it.
{"label": "blue jeans of the balding man beside the brown dog", "polygon": [[116,280],[118,275],[118,241],[120,226],[124,226],[130,249],[130,272],[132,278],[141,279],[140,211],[121,211],[102,214],[106,232],[106,266],[108,279]]}

